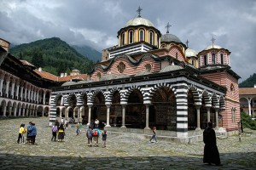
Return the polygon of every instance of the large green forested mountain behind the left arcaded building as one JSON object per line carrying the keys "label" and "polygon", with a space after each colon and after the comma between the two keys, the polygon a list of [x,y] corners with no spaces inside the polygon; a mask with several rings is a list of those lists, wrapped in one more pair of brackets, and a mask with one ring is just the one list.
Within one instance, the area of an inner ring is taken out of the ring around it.
{"label": "large green forested mountain behind the left arcaded building", "polygon": [[87,73],[93,67],[90,59],[79,54],[58,37],[16,45],[10,48],[10,54],[18,59],[25,59],[36,67],[42,67],[43,71],[56,76],[59,76],[61,72],[69,73],[73,69]]}

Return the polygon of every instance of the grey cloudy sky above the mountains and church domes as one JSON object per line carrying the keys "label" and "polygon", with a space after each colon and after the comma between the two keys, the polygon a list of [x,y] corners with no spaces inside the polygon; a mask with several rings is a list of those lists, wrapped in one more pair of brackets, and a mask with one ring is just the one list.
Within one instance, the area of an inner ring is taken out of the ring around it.
{"label": "grey cloudy sky above the mountains and church domes", "polygon": [[211,44],[230,50],[239,82],[256,73],[255,0],[0,0],[0,37],[13,43],[60,37],[102,51],[117,44],[117,31],[142,17],[200,52]]}

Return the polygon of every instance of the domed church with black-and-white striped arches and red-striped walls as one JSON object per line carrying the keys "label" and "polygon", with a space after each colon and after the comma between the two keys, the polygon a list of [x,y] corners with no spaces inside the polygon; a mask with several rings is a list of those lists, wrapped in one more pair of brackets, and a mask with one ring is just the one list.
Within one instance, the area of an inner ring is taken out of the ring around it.
{"label": "domed church with black-and-white striped arches and red-striped walls", "polygon": [[117,132],[137,129],[188,143],[213,122],[217,131],[238,130],[238,79],[230,51],[214,44],[196,53],[139,15],[118,31],[118,45],[102,51],[87,80],[52,88],[49,125],[56,116]]}

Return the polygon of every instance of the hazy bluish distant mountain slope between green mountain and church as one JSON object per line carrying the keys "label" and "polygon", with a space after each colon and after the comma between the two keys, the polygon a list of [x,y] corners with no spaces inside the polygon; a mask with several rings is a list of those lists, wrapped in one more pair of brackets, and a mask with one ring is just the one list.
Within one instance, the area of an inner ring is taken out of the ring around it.
{"label": "hazy bluish distant mountain slope between green mountain and church", "polygon": [[99,62],[102,60],[102,54],[94,48],[90,48],[89,46],[77,46],[73,45],[73,48],[75,48],[79,54],[84,55],[90,60],[93,60],[94,62]]}

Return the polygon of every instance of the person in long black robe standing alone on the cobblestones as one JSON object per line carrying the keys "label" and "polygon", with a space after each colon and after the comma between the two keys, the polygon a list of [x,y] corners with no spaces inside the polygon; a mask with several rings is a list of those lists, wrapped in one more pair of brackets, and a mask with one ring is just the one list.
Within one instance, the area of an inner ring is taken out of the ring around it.
{"label": "person in long black robe standing alone on the cobblestones", "polygon": [[221,166],[212,122],[207,123],[207,128],[203,132],[203,141],[205,143],[203,162],[208,163],[208,165],[214,163],[215,165]]}

